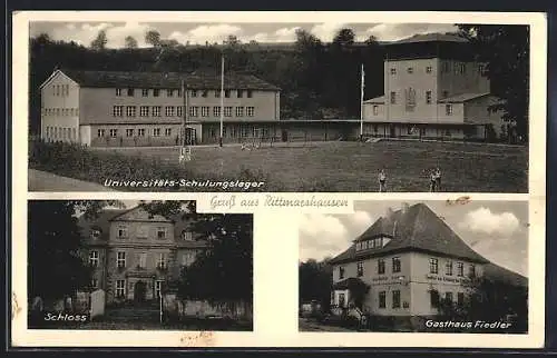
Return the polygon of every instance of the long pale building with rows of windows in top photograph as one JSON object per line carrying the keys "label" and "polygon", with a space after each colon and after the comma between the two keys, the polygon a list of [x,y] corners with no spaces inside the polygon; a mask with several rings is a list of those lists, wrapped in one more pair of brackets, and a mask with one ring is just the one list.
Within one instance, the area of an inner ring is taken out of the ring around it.
{"label": "long pale building with rows of windows in top photograph", "polygon": [[58,69],[40,89],[41,138],[94,147],[217,142],[221,115],[223,140],[238,141],[280,119],[280,89],[246,74],[225,76],[223,107],[208,73]]}

